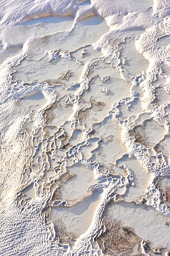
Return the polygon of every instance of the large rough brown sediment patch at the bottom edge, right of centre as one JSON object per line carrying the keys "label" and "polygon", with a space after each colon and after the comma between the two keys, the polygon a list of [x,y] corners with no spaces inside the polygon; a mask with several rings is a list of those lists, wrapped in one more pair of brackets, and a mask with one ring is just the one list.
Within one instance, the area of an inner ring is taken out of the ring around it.
{"label": "large rough brown sediment patch at the bottom edge, right of centre", "polygon": [[142,255],[139,249],[141,238],[134,233],[132,228],[121,226],[120,221],[108,215],[104,218],[104,227],[104,232],[97,237],[96,241],[105,255],[131,255],[135,245],[137,245],[136,255]]}

